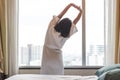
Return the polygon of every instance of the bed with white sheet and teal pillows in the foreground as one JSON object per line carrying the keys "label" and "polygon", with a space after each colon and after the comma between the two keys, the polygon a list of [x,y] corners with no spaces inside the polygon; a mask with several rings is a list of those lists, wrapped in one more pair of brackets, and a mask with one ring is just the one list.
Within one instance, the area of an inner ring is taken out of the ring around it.
{"label": "bed with white sheet and teal pillows in the foreground", "polygon": [[5,80],[120,80],[120,64],[104,66],[90,76],[18,74]]}

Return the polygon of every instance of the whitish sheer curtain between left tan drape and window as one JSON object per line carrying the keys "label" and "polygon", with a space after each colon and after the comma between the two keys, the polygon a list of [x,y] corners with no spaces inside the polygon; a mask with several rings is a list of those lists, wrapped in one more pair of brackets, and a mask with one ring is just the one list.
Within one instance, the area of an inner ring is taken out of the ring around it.
{"label": "whitish sheer curtain between left tan drape and window", "polygon": [[18,0],[7,0],[8,29],[8,73],[9,76],[18,73]]}

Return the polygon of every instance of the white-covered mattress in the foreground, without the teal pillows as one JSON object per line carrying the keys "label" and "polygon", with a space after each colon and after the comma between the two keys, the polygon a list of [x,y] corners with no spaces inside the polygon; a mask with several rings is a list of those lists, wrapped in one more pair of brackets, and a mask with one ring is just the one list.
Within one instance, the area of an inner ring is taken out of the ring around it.
{"label": "white-covered mattress in the foreground, without the teal pillows", "polygon": [[5,80],[97,80],[95,75],[76,76],[76,75],[41,75],[41,74],[19,74],[11,76]]}

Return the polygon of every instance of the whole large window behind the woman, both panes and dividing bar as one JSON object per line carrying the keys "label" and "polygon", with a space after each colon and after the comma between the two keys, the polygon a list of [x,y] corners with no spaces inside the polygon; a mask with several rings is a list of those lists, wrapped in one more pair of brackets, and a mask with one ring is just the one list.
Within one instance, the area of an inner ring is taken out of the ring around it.
{"label": "whole large window behind the woman, both panes and dividing bar", "polygon": [[[19,66],[41,65],[48,23],[70,2],[85,7],[85,17],[62,49],[65,67],[104,65],[104,0],[19,0]],[[65,16],[77,13],[71,8]]]}

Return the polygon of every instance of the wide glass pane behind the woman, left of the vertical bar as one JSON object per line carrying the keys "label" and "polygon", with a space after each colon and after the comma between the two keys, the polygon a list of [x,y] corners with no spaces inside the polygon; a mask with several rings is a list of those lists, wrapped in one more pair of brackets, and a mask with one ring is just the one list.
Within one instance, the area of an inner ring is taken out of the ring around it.
{"label": "wide glass pane behind the woman, left of the vertical bar", "polygon": [[[81,0],[19,0],[19,66],[41,65],[42,47],[49,21],[70,2],[81,5]],[[71,8],[65,16],[73,20],[76,14],[77,10]],[[81,21],[77,27],[79,32],[62,49],[65,66],[81,65],[82,62]]]}

